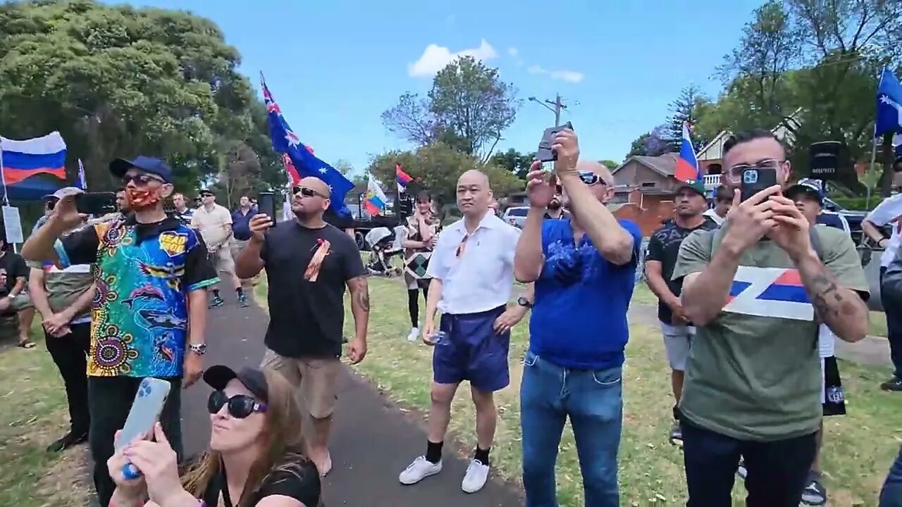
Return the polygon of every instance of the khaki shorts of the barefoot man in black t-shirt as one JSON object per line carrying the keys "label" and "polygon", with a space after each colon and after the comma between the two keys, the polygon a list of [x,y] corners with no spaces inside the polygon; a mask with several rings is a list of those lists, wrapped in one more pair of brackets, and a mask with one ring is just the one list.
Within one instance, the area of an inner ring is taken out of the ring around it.
{"label": "khaki shorts of the barefoot man in black t-shirt", "polygon": [[336,410],[338,373],[337,357],[285,357],[267,349],[261,368],[272,368],[292,385],[300,387],[302,407],[314,419],[327,419]]}

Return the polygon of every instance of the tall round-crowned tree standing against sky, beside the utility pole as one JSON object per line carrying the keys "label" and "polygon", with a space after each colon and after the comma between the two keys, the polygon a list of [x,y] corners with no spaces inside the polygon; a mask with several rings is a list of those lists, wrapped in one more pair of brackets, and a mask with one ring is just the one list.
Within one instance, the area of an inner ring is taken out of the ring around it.
{"label": "tall round-crowned tree standing against sky, beside the utility pole", "polygon": [[438,72],[426,98],[403,94],[382,113],[382,124],[411,143],[441,142],[487,161],[519,106],[516,90],[502,82],[498,69],[464,57]]}

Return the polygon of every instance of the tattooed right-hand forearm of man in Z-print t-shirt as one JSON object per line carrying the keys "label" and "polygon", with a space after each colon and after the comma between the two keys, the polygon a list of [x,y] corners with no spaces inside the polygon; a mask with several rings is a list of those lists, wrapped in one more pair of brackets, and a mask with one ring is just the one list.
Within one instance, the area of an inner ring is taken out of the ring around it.
{"label": "tattooed right-hand forearm of man in Z-print t-shirt", "polygon": [[814,250],[796,261],[802,284],[820,318],[833,334],[847,342],[868,335],[868,306],[858,292],[836,281]]}

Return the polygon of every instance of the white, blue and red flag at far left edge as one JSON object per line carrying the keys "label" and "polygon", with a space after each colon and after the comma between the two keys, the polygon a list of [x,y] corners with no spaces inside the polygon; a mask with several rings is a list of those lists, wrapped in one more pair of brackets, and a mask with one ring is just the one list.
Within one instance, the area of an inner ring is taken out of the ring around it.
{"label": "white, blue and red flag at far left edge", "polygon": [[66,180],[66,142],[59,132],[23,141],[0,137],[0,150],[7,187],[40,173]]}

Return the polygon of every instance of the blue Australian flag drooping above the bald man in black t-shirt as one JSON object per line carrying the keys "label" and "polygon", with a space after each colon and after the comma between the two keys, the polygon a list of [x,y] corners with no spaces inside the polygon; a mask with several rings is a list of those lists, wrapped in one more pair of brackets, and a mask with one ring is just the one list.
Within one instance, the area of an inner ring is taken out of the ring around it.
{"label": "blue Australian flag drooping above the bald man in black t-shirt", "polygon": [[339,215],[350,214],[351,211],[345,205],[345,194],[354,188],[354,183],[334,167],[319,160],[304,143],[300,142],[298,134],[291,130],[285,117],[282,116],[281,109],[272,98],[270,89],[266,87],[262,74],[260,82],[263,87],[263,102],[270,121],[272,149],[288,155],[300,178],[314,176],[323,180],[329,186],[331,201],[329,207]]}

